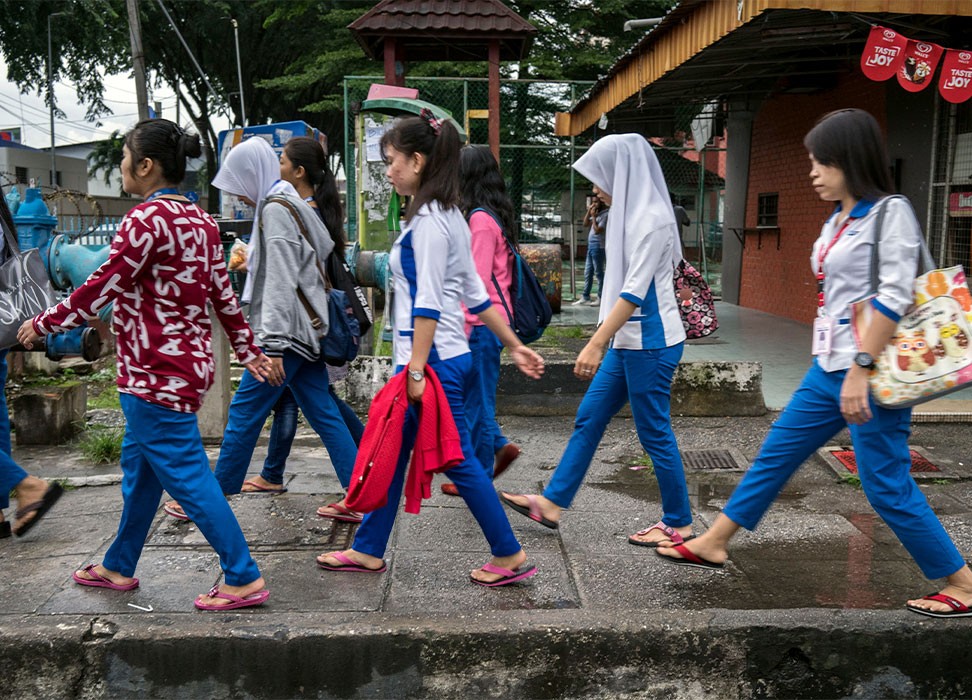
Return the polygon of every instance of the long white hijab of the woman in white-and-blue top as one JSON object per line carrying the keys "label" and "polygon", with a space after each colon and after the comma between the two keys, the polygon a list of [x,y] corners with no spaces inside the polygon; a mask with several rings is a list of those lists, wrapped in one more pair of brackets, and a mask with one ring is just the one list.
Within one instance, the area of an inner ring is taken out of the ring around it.
{"label": "long white hijab of the woman in white-and-blue top", "polygon": [[577,159],[574,170],[611,195],[604,245],[640,242],[671,224],[672,265],[682,259],[675,211],[654,149],[638,134],[612,134]]}

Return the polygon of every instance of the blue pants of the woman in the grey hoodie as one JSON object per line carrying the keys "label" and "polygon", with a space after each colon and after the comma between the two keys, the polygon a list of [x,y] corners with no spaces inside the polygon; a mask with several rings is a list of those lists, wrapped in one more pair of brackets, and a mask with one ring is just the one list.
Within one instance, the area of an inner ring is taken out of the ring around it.
{"label": "blue pants of the woman in the grey hoodie", "polygon": [[283,363],[284,373],[287,375],[283,385],[273,386],[270,382],[258,382],[247,372],[243,375],[240,388],[233,395],[229,421],[223,433],[223,447],[216,461],[216,479],[223,493],[240,492],[263,424],[287,387],[293,392],[304,417],[327,448],[341,485],[347,488],[351,481],[357,448],[328,391],[324,361],[309,362],[297,353],[287,352],[284,354]]}

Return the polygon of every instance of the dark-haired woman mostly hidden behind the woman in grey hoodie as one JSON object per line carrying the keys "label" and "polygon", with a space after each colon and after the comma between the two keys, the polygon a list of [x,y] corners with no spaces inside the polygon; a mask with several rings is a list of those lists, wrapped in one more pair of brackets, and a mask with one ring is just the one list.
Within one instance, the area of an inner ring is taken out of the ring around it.
{"label": "dark-haired woman mostly hidden behind the woman in grey hoodie", "polygon": [[[307,202],[320,217],[331,239],[334,249],[329,262],[344,264],[344,211],[338,195],[337,183],[327,165],[327,156],[320,142],[305,136],[290,139],[280,155],[280,179],[289,182],[297,194]],[[334,392],[334,382],[343,379],[348,372],[347,365],[332,367],[326,365],[328,393],[337,406],[345,425],[351,433],[354,444],[361,441],[364,425],[350,406]],[[270,443],[267,458],[259,476],[243,482],[243,493],[280,493],[284,488],[284,471],[287,457],[297,433],[297,399],[293,392],[285,388],[273,407],[273,424],[270,426]],[[360,513],[338,509],[338,504],[321,506],[317,514],[349,522],[361,522]]]}

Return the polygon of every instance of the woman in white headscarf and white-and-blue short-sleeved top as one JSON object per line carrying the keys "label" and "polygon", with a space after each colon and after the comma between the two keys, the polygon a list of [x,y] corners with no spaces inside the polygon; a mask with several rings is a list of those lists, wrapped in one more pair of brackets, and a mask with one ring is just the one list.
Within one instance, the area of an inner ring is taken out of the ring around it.
{"label": "woman in white headscarf and white-and-blue short-sleeved top", "polygon": [[611,206],[599,327],[574,364],[575,376],[591,386],[543,495],[502,493],[501,498],[540,524],[558,527],[608,422],[630,402],[638,439],[658,479],[663,514],[629,541],[646,547],[680,544],[692,536],[692,513],[671,427],[672,376],[685,328],[675,300],[673,270],[681,247],[668,187],[651,146],[636,134],[606,136],[573,167]]}

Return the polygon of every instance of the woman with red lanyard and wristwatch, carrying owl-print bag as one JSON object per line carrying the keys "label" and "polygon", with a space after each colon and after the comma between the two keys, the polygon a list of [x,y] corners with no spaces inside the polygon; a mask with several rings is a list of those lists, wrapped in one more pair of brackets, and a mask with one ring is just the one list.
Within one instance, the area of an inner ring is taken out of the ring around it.
{"label": "woman with red lanyard and wristwatch, carrying owl-print bag", "polygon": [[[723,568],[739,528],[754,529],[804,460],[848,427],[868,501],[925,576],[946,579],[940,593],[910,600],[908,609],[932,617],[972,616],[972,571],[911,478],[911,409],[879,406],[868,386],[874,357],[913,303],[921,229],[906,200],[884,201],[892,190],[890,167],[870,114],[831,112],[803,143],[814,190],[837,203],[810,256],[818,280],[813,364],[712,528],[691,544],[660,548],[658,555],[676,564]],[[877,231],[881,207],[883,230]],[[879,285],[871,302],[877,313],[858,352],[846,319],[849,305],[870,293],[871,250],[879,239]]]}

